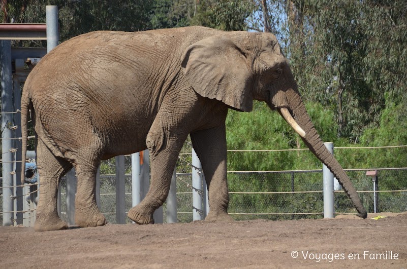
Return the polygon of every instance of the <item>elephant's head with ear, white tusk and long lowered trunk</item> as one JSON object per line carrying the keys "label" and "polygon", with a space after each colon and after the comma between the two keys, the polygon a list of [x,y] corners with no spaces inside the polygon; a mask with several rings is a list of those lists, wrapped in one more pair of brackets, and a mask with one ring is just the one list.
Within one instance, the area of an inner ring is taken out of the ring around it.
{"label": "elephant's head with ear, white tusk and long lowered trunk", "polygon": [[312,124],[273,34],[222,32],[207,37],[186,49],[182,67],[186,79],[201,96],[240,111],[251,111],[253,99],[265,101],[277,110],[339,180],[358,216],[366,218],[352,182]]}

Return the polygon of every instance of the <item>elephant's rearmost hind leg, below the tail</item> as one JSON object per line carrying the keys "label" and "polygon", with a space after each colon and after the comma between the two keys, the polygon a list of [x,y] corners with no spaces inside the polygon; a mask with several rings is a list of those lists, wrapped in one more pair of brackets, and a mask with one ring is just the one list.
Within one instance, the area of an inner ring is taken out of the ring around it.
{"label": "elephant's rearmost hind leg, below the tail", "polygon": [[56,157],[51,150],[38,139],[37,169],[40,175],[40,195],[36,213],[36,231],[66,229],[57,212],[58,184],[61,177],[72,168],[65,159]]}

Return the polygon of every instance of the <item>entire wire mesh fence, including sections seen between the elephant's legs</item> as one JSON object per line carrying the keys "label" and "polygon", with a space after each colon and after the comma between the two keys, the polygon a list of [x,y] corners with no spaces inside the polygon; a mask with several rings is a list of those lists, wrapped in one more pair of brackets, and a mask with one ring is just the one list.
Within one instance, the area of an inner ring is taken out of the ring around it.
{"label": "entire wire mesh fence, including sections seen between the elephant's legs", "polygon": [[[176,167],[177,218],[178,222],[193,220],[192,202],[192,145],[185,143]],[[132,207],[131,158],[125,157],[126,212]],[[100,176],[101,211],[109,223],[116,223],[116,178],[114,159],[102,164]],[[374,169],[378,171],[378,212],[407,211],[407,168]],[[373,212],[373,183],[366,176],[367,169],[348,169],[359,197],[368,212]],[[104,174],[108,173],[108,174]],[[236,220],[247,219],[297,219],[323,217],[322,170],[306,171],[252,171],[228,172],[229,208]],[[3,190],[0,180],[0,195]],[[61,181],[61,218],[67,220],[66,180]],[[0,197],[0,208],[3,197]],[[164,222],[166,204],[163,205]],[[356,213],[354,206],[343,191],[335,191],[335,212]],[[0,221],[3,214],[0,214]],[[127,222],[131,220],[127,218]]]}

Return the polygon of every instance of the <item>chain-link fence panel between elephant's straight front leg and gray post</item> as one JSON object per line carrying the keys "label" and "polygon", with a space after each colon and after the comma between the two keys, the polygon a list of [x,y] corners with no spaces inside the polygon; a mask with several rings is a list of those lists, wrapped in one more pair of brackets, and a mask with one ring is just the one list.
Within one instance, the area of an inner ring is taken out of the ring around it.
{"label": "chain-link fence panel between elephant's straight front leg and gray post", "polygon": [[322,170],[232,172],[228,184],[234,219],[303,218],[323,212]]}

